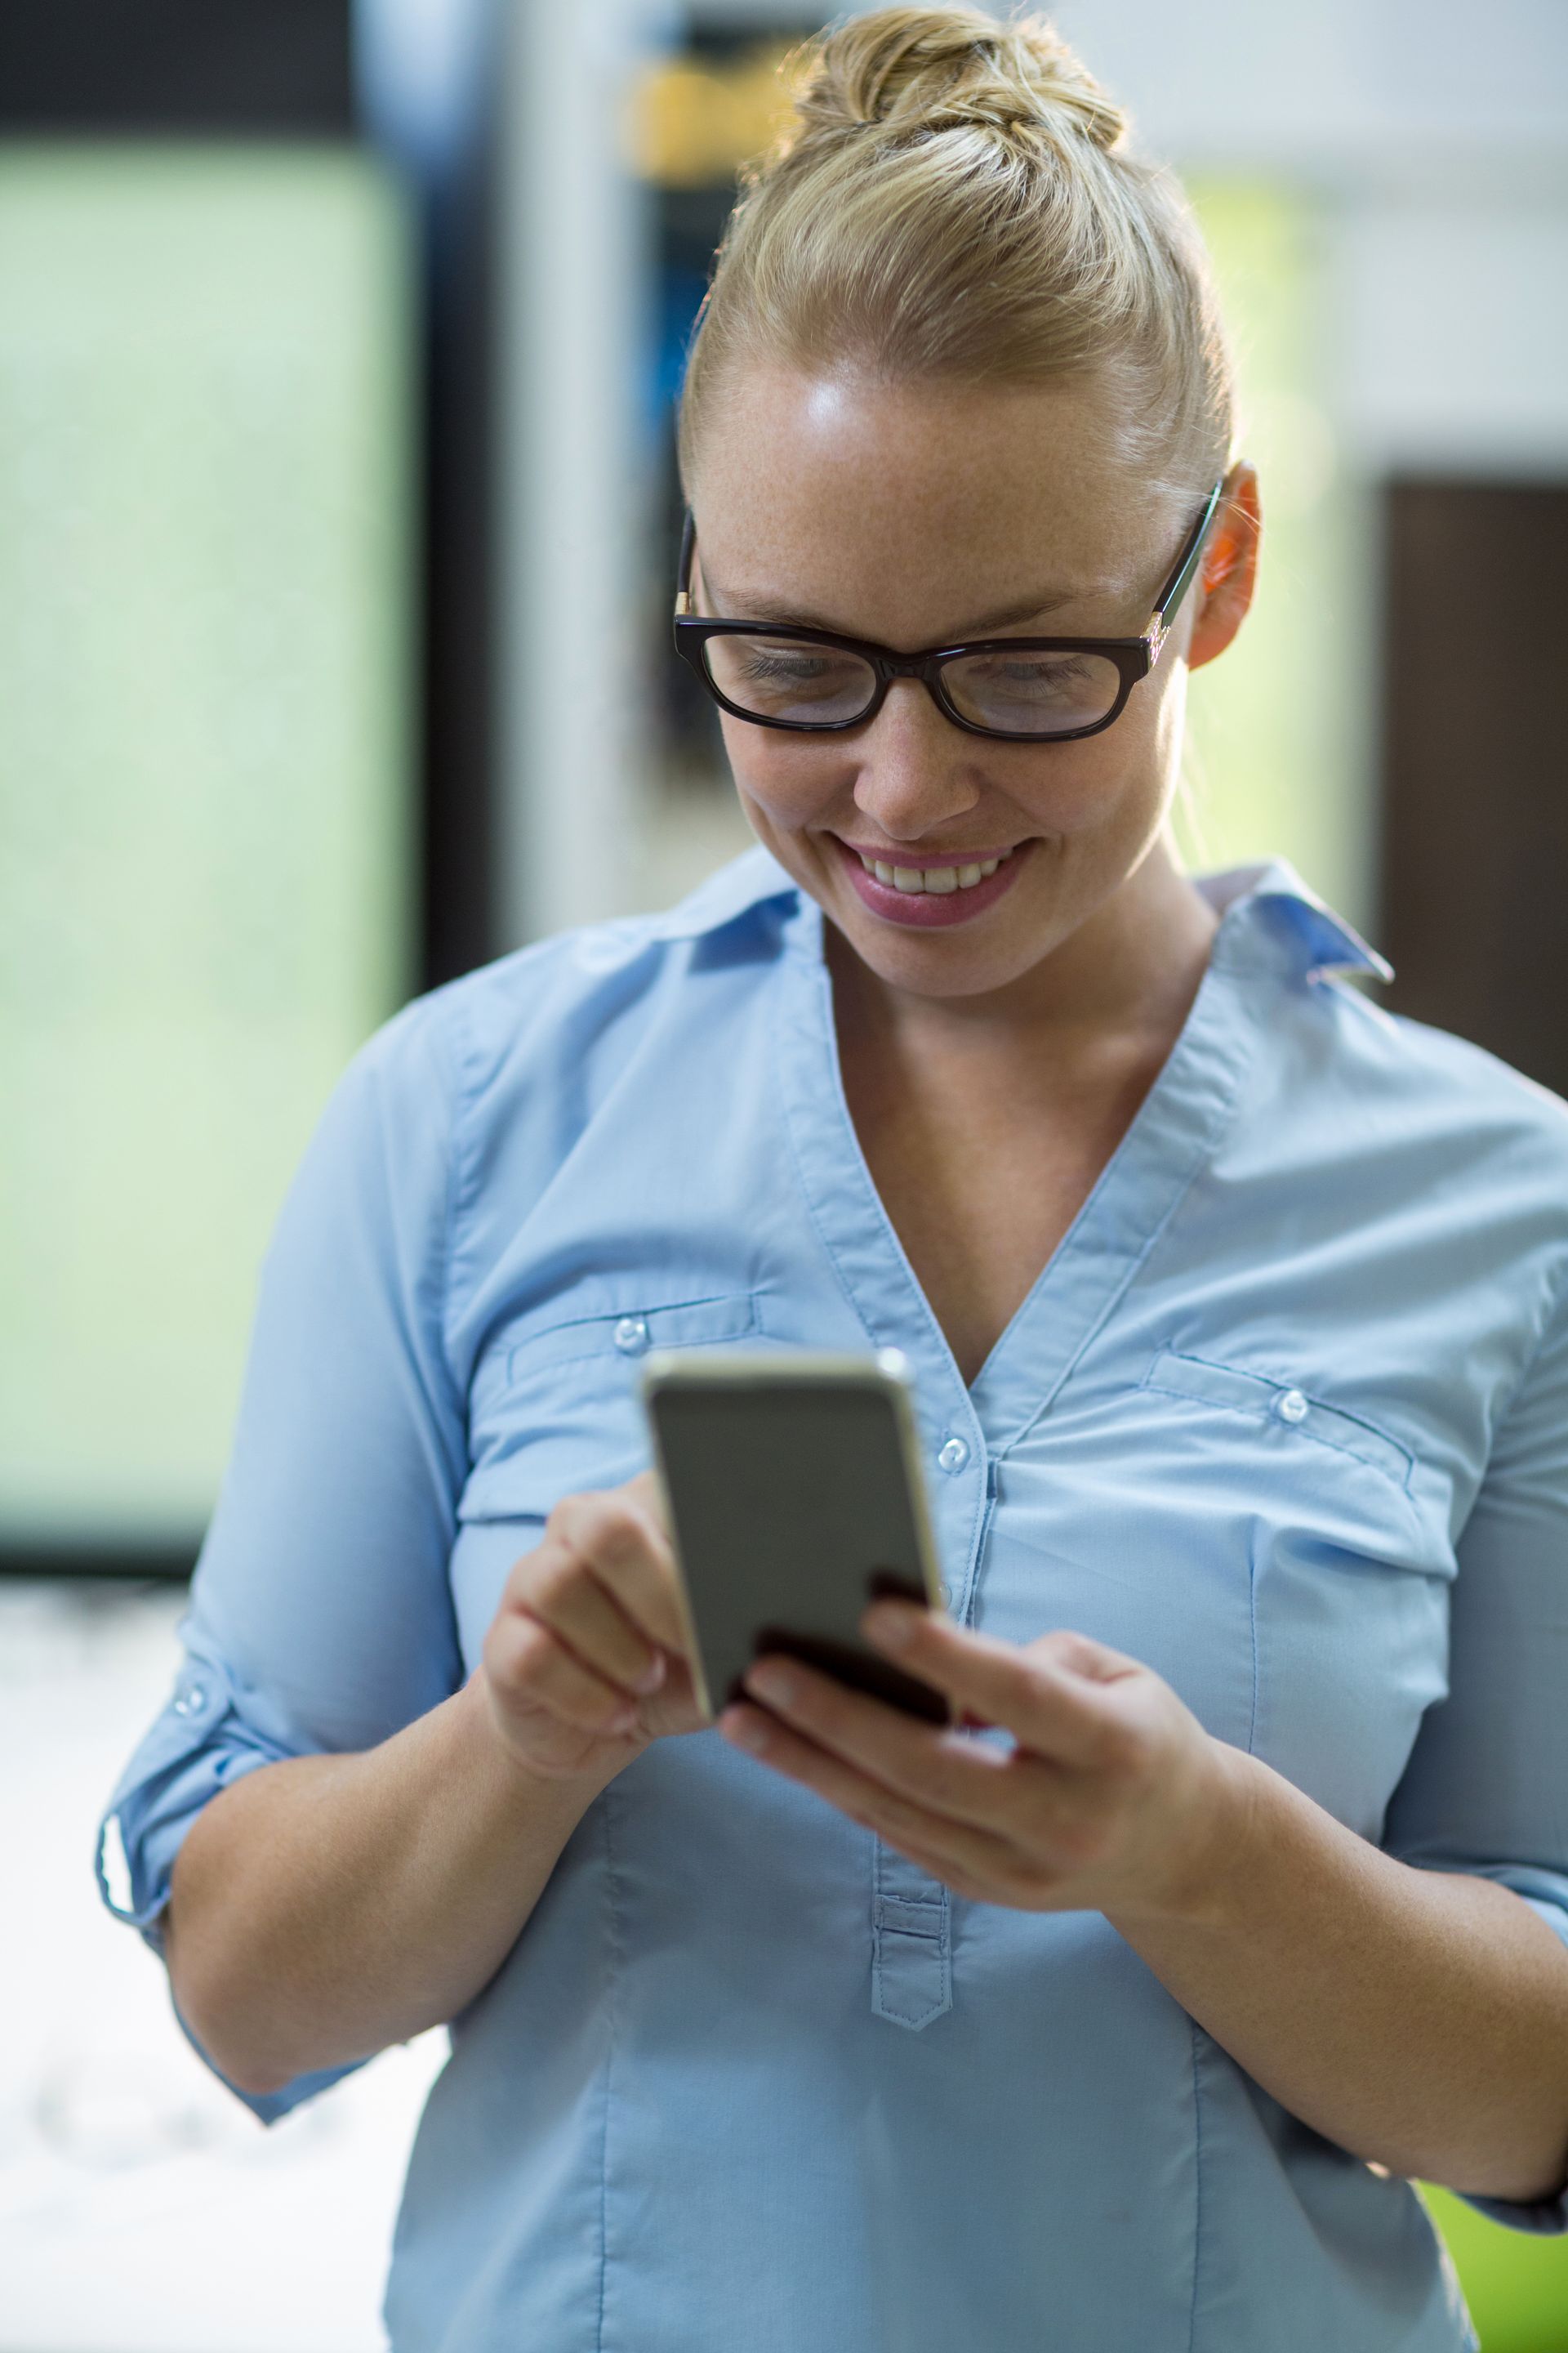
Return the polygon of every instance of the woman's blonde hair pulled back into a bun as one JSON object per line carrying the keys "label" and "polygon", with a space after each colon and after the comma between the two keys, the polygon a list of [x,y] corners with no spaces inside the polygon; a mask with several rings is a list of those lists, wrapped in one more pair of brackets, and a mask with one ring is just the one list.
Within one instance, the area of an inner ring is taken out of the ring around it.
{"label": "woman's blonde hair pulled back into a bun", "polygon": [[1171,496],[1229,471],[1234,384],[1204,242],[1044,19],[886,7],[795,71],[795,120],[743,179],[698,318],[686,485],[724,381],[752,362],[1095,379],[1114,447]]}

